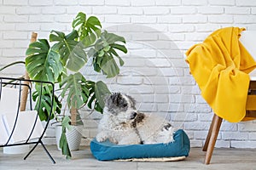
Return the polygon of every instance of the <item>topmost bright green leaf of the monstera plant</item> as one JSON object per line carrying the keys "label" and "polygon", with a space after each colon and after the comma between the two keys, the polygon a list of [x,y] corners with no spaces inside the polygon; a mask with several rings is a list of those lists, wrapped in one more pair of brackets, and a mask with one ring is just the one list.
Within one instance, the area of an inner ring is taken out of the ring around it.
{"label": "topmost bright green leaf of the monstera plant", "polygon": [[86,19],[86,14],[80,12],[72,23],[73,29],[79,32],[79,41],[86,47],[96,42],[96,38],[101,35],[101,22],[95,17],[90,16]]}

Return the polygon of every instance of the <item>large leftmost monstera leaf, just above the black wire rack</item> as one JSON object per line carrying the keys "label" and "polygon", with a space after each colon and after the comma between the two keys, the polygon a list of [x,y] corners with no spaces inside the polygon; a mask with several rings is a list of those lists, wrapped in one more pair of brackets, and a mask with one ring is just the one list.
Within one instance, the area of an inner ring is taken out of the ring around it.
{"label": "large leftmost monstera leaf, just above the black wire rack", "polygon": [[33,80],[55,82],[60,77],[63,69],[60,54],[49,48],[47,40],[32,42],[26,56],[26,71]]}

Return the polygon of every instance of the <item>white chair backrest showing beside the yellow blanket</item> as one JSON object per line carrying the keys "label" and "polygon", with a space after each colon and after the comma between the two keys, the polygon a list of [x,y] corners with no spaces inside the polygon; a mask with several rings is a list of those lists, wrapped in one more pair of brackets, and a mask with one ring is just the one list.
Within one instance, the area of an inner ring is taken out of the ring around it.
{"label": "white chair backrest showing beside the yellow blanket", "polygon": [[[256,31],[242,31],[240,42],[247,48],[247,51],[253,56],[253,59],[256,60]],[[256,81],[256,69],[249,75],[251,80]]]}

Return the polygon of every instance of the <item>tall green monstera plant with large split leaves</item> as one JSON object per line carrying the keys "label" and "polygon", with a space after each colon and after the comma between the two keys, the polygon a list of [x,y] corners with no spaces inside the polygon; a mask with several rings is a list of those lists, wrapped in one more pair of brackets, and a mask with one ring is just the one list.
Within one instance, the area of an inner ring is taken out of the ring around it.
{"label": "tall green monstera plant with large split leaves", "polygon": [[[71,152],[65,136],[66,129],[70,124],[77,122],[70,117],[75,119],[79,115],[79,109],[84,105],[102,112],[104,95],[110,93],[104,82],[90,81],[86,73],[83,75],[80,70],[90,59],[91,69],[102,72],[108,78],[115,77],[119,74],[119,65],[124,65],[118,51],[127,52],[125,38],[102,31],[101,22],[95,16],[87,18],[86,14],[80,12],[73,20],[72,26],[73,31],[67,34],[50,31],[49,40],[38,39],[26,50],[26,71],[29,77],[33,80],[53,82],[56,87],[52,89],[35,85],[37,91],[32,97],[37,102],[36,107],[38,102],[41,102],[41,108],[37,108],[41,121],[49,118],[49,99],[53,90],[56,92],[54,116],[61,113],[62,101],[66,101],[71,114],[76,115],[64,116],[61,119],[60,146],[62,154],[67,157],[71,156]],[[119,61],[119,64],[116,61]],[[38,100],[39,93],[43,94],[41,101]]]}

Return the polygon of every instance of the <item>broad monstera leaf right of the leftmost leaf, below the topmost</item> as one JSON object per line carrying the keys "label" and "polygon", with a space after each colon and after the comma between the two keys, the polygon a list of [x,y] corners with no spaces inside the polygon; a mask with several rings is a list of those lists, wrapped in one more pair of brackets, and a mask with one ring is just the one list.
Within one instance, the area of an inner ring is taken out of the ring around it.
{"label": "broad monstera leaf right of the leftmost leaf, below the topmost", "polygon": [[56,42],[52,47],[61,55],[61,62],[70,71],[79,71],[87,62],[84,44],[77,42],[77,31],[72,31],[67,36],[61,31],[51,31],[50,42]]}

